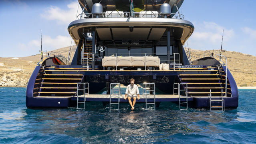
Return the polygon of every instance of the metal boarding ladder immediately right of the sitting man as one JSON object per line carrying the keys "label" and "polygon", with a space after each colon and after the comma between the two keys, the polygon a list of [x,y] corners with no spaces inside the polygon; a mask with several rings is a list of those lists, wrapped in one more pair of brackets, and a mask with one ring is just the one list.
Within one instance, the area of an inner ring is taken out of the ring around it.
{"label": "metal boarding ladder immediately right of the sitting man", "polygon": [[[151,90],[151,87],[154,89]],[[154,110],[155,110],[155,84],[154,83],[143,83],[142,88],[143,88],[142,94],[143,95],[145,94],[146,109],[147,109],[147,104],[154,104]],[[144,93],[144,91],[145,91],[145,93]],[[151,92],[153,92],[153,94]],[[147,103],[147,98],[154,98],[154,103]]]}

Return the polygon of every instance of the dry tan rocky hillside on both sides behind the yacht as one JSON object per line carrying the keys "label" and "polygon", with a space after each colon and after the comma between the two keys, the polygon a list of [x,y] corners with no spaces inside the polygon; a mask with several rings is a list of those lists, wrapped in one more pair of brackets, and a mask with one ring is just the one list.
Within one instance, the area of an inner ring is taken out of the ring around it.
{"label": "dry tan rocky hillside on both sides behind the yacht", "polygon": [[[76,46],[73,46],[73,54]],[[214,50],[194,50],[189,49],[191,60],[209,56]],[[58,54],[67,57],[69,47],[54,50]],[[217,51],[216,51],[217,52]],[[240,52],[222,52],[228,59],[228,68],[232,72],[238,86],[256,86],[256,56],[242,54]],[[0,57],[0,86],[26,87],[30,75],[36,64],[40,61],[40,54],[20,58],[1,58]]]}

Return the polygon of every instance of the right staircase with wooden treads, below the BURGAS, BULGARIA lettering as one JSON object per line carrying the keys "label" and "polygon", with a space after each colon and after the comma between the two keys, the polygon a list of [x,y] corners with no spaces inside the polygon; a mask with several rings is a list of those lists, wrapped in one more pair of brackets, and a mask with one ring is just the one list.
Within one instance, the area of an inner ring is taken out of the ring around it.
{"label": "right staircase with wooden treads, below the BURGAS, BULGARIA lettering", "polygon": [[[218,70],[218,67],[211,68],[217,71],[217,74],[179,74],[181,83],[187,83],[188,96],[222,96],[222,91],[225,94],[225,73],[223,70]],[[194,71],[194,70],[193,70]],[[207,71],[207,70],[205,70]],[[227,96],[231,97],[231,88],[227,80]]]}

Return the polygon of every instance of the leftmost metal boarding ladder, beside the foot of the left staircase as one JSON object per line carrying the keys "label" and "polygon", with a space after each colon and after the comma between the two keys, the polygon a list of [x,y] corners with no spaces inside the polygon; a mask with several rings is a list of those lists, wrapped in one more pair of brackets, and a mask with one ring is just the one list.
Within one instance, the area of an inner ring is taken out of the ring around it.
{"label": "leftmost metal boarding ladder, beside the foot of the left staircase", "polygon": [[[80,87],[83,87],[83,89],[79,89]],[[79,93],[81,91],[82,91],[82,93]],[[79,83],[77,83],[77,109],[81,109],[81,110],[85,109],[85,101],[86,101],[86,95],[87,94],[89,94],[89,83],[88,82],[79,82]],[[79,102],[79,97],[84,98],[84,101]],[[84,104],[84,107],[79,108],[79,106],[78,106],[79,103]]]}

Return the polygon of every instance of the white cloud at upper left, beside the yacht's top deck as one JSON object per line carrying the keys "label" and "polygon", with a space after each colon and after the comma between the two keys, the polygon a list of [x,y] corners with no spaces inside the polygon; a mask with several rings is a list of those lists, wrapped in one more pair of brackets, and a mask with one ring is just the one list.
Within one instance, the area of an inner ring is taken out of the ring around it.
{"label": "white cloud at upper left, beside the yacht's top deck", "polygon": [[[41,14],[46,20],[56,20],[58,24],[69,24],[76,20],[76,14],[81,14],[82,9],[78,6],[78,2],[71,2],[67,5],[67,9],[61,9],[57,6],[50,6]],[[79,7],[77,13],[77,7]]]}

